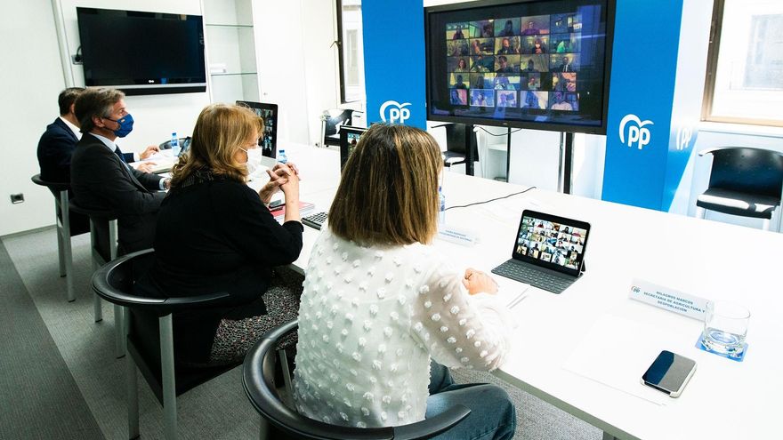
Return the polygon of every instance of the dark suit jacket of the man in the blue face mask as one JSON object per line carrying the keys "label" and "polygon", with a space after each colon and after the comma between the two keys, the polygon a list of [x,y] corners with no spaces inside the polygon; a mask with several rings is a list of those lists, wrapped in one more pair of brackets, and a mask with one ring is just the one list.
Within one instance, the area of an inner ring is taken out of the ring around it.
{"label": "dark suit jacket of the man in the blue face mask", "polygon": [[85,133],[70,164],[75,201],[85,209],[117,213],[123,252],[152,247],[157,210],[165,193],[160,177],[133,169],[92,134]]}

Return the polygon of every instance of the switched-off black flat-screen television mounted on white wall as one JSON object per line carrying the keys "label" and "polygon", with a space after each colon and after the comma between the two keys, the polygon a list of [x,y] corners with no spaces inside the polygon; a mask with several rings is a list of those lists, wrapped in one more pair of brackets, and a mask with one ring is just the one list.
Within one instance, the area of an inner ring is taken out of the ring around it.
{"label": "switched-off black flat-screen television mounted on white wall", "polygon": [[86,86],[206,92],[200,15],[77,8],[77,20]]}

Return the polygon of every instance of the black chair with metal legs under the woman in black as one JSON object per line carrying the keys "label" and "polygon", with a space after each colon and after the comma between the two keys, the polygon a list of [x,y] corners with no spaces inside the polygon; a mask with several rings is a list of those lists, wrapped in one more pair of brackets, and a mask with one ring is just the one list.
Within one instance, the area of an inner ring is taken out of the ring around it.
{"label": "black chair with metal legs under the woman in black", "polygon": [[[210,307],[229,296],[227,292],[183,298],[145,298],[133,293],[134,279],[149,266],[155,251],[129,253],[112,260],[93,274],[93,291],[101,298],[128,310],[127,392],[128,435],[139,436],[139,396],[136,367],[163,405],[165,438],[177,436],[176,397],[220,376],[236,364],[197,367],[174,362],[172,314],[192,308]],[[135,277],[134,277],[135,275]]]}

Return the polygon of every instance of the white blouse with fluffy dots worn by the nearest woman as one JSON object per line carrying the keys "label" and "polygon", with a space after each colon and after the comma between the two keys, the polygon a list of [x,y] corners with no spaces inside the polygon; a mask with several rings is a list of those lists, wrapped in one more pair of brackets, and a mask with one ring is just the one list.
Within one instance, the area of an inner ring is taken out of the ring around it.
{"label": "white blouse with fluffy dots worn by the nearest woman", "polygon": [[429,246],[361,247],[324,228],[299,308],[296,409],[335,425],[405,425],[424,420],[430,356],[452,368],[502,364],[509,313],[463,279]]}

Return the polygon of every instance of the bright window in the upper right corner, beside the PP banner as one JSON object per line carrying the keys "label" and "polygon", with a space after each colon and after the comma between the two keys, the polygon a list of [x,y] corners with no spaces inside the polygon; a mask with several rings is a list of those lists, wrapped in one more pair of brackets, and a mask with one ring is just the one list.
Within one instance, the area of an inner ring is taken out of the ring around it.
{"label": "bright window in the upper right corner, beside the PP banner", "polygon": [[716,0],[702,119],[783,126],[783,2]]}

